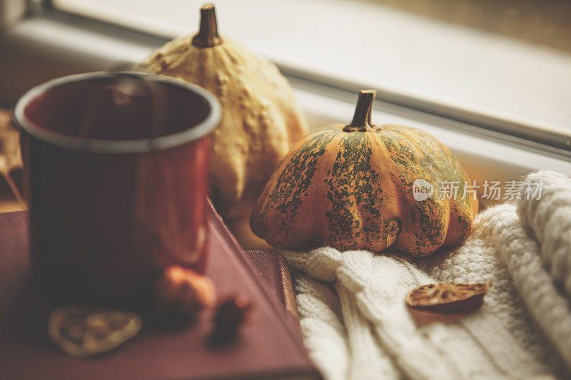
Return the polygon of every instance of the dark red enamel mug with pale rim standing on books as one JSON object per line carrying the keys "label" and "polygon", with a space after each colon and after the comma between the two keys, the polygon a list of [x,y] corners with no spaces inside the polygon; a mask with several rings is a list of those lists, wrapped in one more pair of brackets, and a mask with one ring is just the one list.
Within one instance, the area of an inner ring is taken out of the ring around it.
{"label": "dark red enamel mug with pale rim standing on books", "polygon": [[221,106],[166,76],[86,73],[37,86],[22,131],[34,282],[54,304],[141,304],[168,265],[206,265],[208,134]]}

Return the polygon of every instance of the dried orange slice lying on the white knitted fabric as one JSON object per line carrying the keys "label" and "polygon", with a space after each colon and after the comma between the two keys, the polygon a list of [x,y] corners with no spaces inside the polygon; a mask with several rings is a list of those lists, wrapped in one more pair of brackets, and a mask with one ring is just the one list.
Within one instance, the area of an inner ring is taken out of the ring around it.
{"label": "dried orange slice lying on the white knitted fabric", "polygon": [[492,287],[491,282],[428,284],[408,292],[406,303],[409,307],[426,312],[465,314],[475,312],[482,306],[484,296],[490,287]]}

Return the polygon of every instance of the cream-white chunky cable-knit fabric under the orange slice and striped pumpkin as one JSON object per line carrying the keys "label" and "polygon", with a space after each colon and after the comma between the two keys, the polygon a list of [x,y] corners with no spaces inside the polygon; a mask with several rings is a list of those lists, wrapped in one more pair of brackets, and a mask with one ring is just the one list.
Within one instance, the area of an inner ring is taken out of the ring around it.
{"label": "cream-white chunky cable-knit fabric under the orange slice and striped pumpkin", "polygon": [[[540,200],[477,216],[462,247],[414,262],[330,247],[285,252],[305,346],[325,379],[497,379],[571,375],[571,180]],[[493,282],[466,317],[419,319],[405,294],[440,281]]]}

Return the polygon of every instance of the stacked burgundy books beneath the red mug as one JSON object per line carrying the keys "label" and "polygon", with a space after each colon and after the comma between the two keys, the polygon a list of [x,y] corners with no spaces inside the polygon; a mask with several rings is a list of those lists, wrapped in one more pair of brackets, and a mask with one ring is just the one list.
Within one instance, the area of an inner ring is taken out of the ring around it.
{"label": "stacked burgundy books beneath the red mug", "polygon": [[320,379],[291,307],[289,312],[284,307],[291,302],[285,300],[291,290],[287,262],[284,267],[276,261],[281,256],[277,251],[266,257],[248,252],[248,259],[213,207],[206,274],[218,294],[239,292],[255,304],[253,322],[235,342],[209,346],[211,316],[205,313],[189,327],[143,327],[131,341],[103,356],[76,359],[64,354],[49,342],[47,314],[31,287],[27,218],[27,212],[0,214],[1,379]]}

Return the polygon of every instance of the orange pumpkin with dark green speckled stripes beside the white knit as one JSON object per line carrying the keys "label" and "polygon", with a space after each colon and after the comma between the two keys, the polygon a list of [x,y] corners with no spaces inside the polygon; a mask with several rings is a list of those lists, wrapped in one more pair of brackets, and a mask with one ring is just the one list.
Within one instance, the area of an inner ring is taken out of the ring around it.
{"label": "orange pumpkin with dark green speckled stripes beside the white knit", "polygon": [[[361,91],[352,123],[321,128],[285,155],[253,208],[256,235],[290,250],[391,247],[413,256],[468,237],[477,199],[463,196],[458,159],[422,130],[372,125],[374,98]],[[415,200],[418,179],[432,196]],[[447,183],[458,185],[456,197],[443,191]]]}

